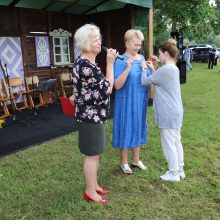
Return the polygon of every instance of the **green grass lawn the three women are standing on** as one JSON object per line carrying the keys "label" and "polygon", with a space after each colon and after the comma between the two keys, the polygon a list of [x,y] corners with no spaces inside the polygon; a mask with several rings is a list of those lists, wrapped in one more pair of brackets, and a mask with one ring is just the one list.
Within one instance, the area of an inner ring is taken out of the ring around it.
{"label": "green grass lawn the three women are standing on", "polygon": [[184,104],[182,142],[186,179],[162,182],[167,170],[159,129],[148,109],[149,138],[141,158],[146,172],[128,176],[111,147],[112,121],[107,123],[108,149],[99,180],[111,190],[106,205],[83,200],[83,155],[77,133],[0,158],[0,219],[220,219],[220,63],[193,64],[181,86]]}

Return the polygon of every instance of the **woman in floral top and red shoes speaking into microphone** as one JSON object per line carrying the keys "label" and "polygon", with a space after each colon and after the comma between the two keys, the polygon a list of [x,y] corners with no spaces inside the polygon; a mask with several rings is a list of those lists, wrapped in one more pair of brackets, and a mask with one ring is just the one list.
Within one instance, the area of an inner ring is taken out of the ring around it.
{"label": "woman in floral top and red shoes speaking into microphone", "polygon": [[86,181],[84,198],[87,201],[107,203],[101,194],[109,191],[97,181],[99,156],[105,149],[105,121],[108,116],[109,96],[113,86],[113,64],[116,50],[107,52],[106,77],[95,60],[101,51],[101,34],[97,26],[86,24],[75,33],[76,46],[82,51],[73,65],[73,87],[76,120],[79,128],[79,148],[85,155],[83,171]]}

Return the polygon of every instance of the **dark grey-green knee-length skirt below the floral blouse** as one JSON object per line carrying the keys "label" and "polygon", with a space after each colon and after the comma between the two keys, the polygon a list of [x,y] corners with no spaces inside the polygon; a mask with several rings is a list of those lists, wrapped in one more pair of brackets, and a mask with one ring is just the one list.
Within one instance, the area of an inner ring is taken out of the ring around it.
{"label": "dark grey-green knee-length skirt below the floral blouse", "polygon": [[96,156],[106,148],[105,124],[78,122],[79,149],[87,156]]}

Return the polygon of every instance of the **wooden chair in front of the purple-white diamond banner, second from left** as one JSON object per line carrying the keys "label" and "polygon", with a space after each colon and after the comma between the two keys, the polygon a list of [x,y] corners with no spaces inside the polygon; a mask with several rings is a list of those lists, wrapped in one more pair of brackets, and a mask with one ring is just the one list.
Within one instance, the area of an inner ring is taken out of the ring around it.
{"label": "wooden chair in front of the purple-white diamond banner, second from left", "polygon": [[13,105],[15,110],[22,110],[28,108],[27,96],[30,97],[30,91],[24,89],[24,84],[21,77],[9,78],[9,86],[12,91],[12,96],[14,99],[21,98],[22,105],[19,107],[18,103],[13,100]]}

